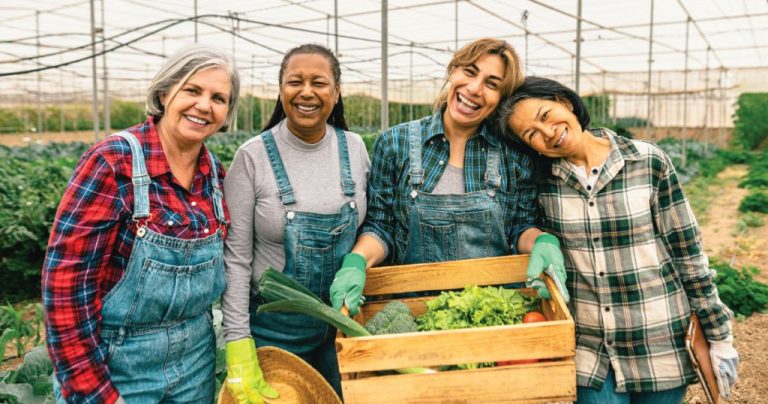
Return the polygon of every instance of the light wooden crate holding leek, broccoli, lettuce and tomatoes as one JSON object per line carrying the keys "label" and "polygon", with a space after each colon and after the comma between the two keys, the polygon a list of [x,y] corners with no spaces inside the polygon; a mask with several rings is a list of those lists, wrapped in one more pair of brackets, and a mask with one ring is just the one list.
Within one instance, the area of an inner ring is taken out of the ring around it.
{"label": "light wooden crate holding leek, broccoli, lettuce and tomatoes", "polygon": [[[525,281],[527,255],[442,263],[378,267],[368,270],[365,296],[446,289],[468,285],[504,285]],[[573,318],[554,282],[542,300],[549,321],[509,326],[428,331],[336,339],[345,403],[482,403],[551,402],[576,399]],[[523,289],[524,293],[532,293]],[[434,297],[399,299],[415,316]],[[388,303],[362,306],[355,320],[364,324]],[[434,374],[388,374],[408,367],[539,359],[539,362],[494,368],[451,370]]]}

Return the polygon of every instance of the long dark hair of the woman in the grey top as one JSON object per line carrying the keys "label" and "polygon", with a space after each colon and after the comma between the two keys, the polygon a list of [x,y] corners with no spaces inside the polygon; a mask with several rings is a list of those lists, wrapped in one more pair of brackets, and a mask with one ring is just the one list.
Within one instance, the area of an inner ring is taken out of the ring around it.
{"label": "long dark hair of the woman in the grey top", "polygon": [[[326,48],[323,45],[318,44],[304,44],[299,45],[291,50],[289,50],[285,56],[283,56],[283,61],[280,63],[280,73],[278,77],[278,83],[282,87],[283,85],[283,73],[285,72],[285,67],[288,65],[288,60],[293,55],[305,55],[305,54],[315,54],[315,55],[321,55],[324,56],[326,59],[328,59],[328,62],[331,64],[331,72],[333,73],[333,81],[337,86],[341,86],[341,65],[339,64],[339,59],[336,58],[336,55],[331,52],[330,49]],[[277,104],[275,104],[275,110],[272,111],[272,116],[269,118],[269,122],[261,129],[262,132],[272,129],[275,125],[280,123],[285,118],[285,111],[283,110],[283,103],[280,100],[280,94],[277,95]],[[344,119],[344,101],[341,99],[341,89],[339,89],[339,101],[336,103],[336,105],[333,106],[333,110],[331,111],[331,115],[328,117],[328,120],[326,120],[327,123],[329,123],[331,126],[334,126],[336,128],[349,130],[347,127],[347,121]]]}

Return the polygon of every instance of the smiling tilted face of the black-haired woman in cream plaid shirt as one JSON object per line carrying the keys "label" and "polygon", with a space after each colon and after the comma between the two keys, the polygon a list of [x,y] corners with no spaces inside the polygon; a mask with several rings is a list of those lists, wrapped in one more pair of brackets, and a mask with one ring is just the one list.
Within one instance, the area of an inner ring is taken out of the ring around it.
{"label": "smiling tilted face of the black-haired woman in cream plaid shirt", "polygon": [[569,157],[581,148],[582,128],[566,102],[526,98],[507,122],[523,143],[547,157]]}

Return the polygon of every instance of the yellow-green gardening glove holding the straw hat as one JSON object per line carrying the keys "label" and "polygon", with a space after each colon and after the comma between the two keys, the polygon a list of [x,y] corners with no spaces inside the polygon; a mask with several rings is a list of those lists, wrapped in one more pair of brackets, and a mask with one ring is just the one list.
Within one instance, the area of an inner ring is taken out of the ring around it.
{"label": "yellow-green gardening glove holding the straw hat", "polygon": [[224,350],[227,359],[225,383],[238,404],[261,404],[264,402],[262,397],[277,398],[280,395],[264,380],[253,338],[227,342]]}

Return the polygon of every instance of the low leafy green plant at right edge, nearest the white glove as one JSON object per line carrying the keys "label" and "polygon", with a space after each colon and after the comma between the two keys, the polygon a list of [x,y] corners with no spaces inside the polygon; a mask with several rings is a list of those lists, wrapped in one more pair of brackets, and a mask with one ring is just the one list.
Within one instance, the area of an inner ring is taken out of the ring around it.
{"label": "low leafy green plant at right edge, nearest the white glove", "polygon": [[768,310],[768,285],[754,279],[759,269],[736,269],[724,262],[714,262],[712,267],[717,271],[715,284],[720,299],[734,313],[746,317]]}

